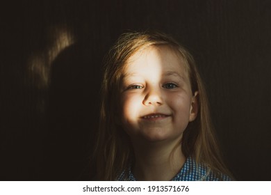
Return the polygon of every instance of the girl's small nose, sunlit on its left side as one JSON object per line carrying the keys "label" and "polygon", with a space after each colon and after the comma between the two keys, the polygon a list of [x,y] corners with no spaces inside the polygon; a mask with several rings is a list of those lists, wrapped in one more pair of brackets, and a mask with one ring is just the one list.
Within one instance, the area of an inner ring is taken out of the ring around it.
{"label": "girl's small nose, sunlit on its left side", "polygon": [[159,89],[149,89],[149,91],[147,91],[145,98],[143,100],[143,104],[145,104],[145,106],[148,105],[161,105],[163,104],[163,98],[162,98],[162,94],[161,91]]}

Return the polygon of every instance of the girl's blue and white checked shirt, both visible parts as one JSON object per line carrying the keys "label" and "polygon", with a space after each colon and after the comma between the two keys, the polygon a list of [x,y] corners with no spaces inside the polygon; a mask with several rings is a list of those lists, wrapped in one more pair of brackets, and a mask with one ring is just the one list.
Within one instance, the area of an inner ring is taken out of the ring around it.
{"label": "girl's blue and white checked shirt, both visible parts", "polygon": [[[123,171],[120,176],[117,178],[119,181],[136,181],[136,178],[133,176],[133,173],[130,168],[126,171]],[[128,176],[128,178],[126,178]],[[217,177],[208,166],[204,164],[197,164],[195,159],[188,157],[186,162],[183,164],[183,168],[179,173],[172,178],[172,181],[230,181],[231,178],[224,174],[220,174],[220,177]]]}

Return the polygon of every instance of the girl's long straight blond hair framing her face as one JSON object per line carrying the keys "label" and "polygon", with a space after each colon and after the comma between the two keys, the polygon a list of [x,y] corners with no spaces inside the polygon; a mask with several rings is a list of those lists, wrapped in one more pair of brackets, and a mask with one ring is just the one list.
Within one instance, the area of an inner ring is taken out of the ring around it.
{"label": "girl's long straight blond hair framing her face", "polygon": [[167,45],[174,49],[188,68],[192,93],[198,91],[199,113],[183,132],[181,148],[183,155],[192,156],[197,163],[204,163],[217,176],[231,175],[220,157],[208,108],[206,90],[195,61],[190,53],[176,40],[158,32],[124,33],[108,53],[101,85],[101,113],[95,154],[97,157],[97,180],[115,180],[133,161],[133,148],[129,136],[117,123],[120,109],[120,84],[125,63],[132,54],[150,45]]}

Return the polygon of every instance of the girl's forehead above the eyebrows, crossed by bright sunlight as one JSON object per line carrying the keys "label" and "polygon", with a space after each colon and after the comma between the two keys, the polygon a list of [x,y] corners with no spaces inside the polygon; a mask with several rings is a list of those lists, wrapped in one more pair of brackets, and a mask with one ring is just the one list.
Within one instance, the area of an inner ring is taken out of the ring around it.
{"label": "girl's forehead above the eyebrows, crossed by bright sunlight", "polygon": [[138,73],[188,77],[181,54],[167,45],[151,45],[135,52],[125,63],[124,77]]}

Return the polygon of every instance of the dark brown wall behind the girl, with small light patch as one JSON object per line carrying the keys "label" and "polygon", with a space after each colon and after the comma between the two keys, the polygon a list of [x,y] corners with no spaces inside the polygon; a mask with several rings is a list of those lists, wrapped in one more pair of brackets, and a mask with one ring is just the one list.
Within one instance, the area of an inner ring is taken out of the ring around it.
{"label": "dark brown wall behind the girl, with small light patch", "polygon": [[92,180],[102,59],[127,30],[195,56],[237,180],[271,180],[271,1],[1,4],[0,179]]}

